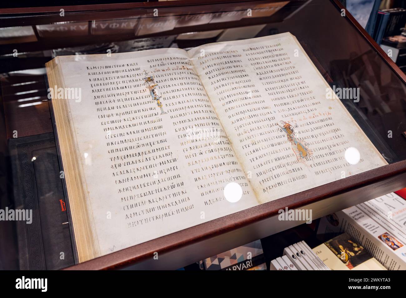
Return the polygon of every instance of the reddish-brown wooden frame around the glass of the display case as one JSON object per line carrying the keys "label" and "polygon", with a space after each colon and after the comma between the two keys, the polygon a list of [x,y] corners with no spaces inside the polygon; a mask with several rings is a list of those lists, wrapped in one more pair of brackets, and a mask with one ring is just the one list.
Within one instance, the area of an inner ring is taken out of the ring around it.
{"label": "reddish-brown wooden frame around the glass of the display case", "polygon": [[[332,1],[337,6],[337,10],[344,8],[338,0]],[[29,14],[26,13],[28,9],[0,9],[0,17],[7,17],[2,19],[5,22],[5,27],[21,26],[21,17],[24,17],[24,26],[29,26],[60,21],[54,15],[49,15],[48,13],[59,11],[61,8],[65,9],[65,21],[80,21],[81,19],[88,20],[89,18],[97,20],[117,17],[115,11],[122,9],[138,8],[146,12],[154,8],[171,7],[173,12],[176,12],[177,9],[186,5],[198,8],[202,4],[221,6],[227,3],[238,4],[238,2],[246,1],[223,0],[221,2],[214,2],[216,1],[179,0],[39,7],[29,9]],[[261,1],[256,2],[260,3]],[[131,12],[128,13],[128,16],[130,15]],[[120,17],[125,16],[125,13],[120,15]],[[346,17],[352,26],[358,30],[359,34],[393,69],[397,76],[406,82],[404,73],[400,71],[371,36],[358,24],[354,17],[348,12],[346,12]],[[247,20],[247,24],[251,25],[252,22],[250,21]],[[241,25],[244,26],[244,24]],[[215,26],[213,26],[214,28]],[[208,28],[207,30],[213,29]],[[108,38],[109,36],[104,36],[102,39],[107,41]],[[35,49],[35,46],[35,43],[30,45],[32,49]],[[50,46],[52,47],[52,45]],[[8,50],[4,49],[4,51]],[[316,219],[404,187],[406,187],[406,160],[214,219],[65,269],[177,269],[303,223],[298,221],[279,221],[278,210],[285,207],[289,209],[312,209],[313,219]],[[158,259],[154,258],[155,253],[158,253]]]}

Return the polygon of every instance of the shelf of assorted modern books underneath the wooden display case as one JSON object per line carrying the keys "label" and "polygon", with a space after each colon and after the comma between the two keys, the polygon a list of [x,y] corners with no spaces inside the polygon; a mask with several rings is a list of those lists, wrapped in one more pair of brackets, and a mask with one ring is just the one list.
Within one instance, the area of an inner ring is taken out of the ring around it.
{"label": "shelf of assorted modern books underneath the wooden display case", "polygon": [[405,270],[405,207],[403,197],[389,193],[318,219],[316,225],[303,224],[203,259],[199,268]]}

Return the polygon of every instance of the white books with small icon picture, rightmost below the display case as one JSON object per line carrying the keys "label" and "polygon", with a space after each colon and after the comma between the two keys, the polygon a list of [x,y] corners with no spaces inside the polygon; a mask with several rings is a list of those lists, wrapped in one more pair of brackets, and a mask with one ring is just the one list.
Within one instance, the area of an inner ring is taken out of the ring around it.
{"label": "white books with small icon picture, rightmost below the display case", "polygon": [[317,234],[345,232],[388,270],[406,270],[406,201],[395,193],[324,217]]}

